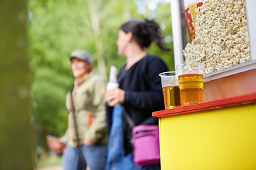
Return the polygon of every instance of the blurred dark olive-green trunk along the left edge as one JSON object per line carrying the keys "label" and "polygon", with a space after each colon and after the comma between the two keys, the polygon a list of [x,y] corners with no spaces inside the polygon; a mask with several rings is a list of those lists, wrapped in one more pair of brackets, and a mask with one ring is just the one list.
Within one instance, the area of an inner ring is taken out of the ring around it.
{"label": "blurred dark olive-green trunk along the left edge", "polygon": [[0,169],[35,168],[27,1],[0,1]]}

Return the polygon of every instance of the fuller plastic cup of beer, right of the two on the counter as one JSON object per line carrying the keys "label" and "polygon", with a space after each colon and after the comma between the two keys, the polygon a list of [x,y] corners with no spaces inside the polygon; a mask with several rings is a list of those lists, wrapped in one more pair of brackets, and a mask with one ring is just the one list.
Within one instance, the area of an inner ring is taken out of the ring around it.
{"label": "fuller plastic cup of beer, right of the two on the counter", "polygon": [[181,106],[203,103],[203,64],[188,63],[175,67]]}

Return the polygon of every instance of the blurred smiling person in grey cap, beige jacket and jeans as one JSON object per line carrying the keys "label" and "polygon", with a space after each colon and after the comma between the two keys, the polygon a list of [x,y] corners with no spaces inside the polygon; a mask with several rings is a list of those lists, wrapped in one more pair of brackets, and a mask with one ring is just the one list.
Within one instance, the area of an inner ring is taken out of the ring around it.
{"label": "blurred smiling person in grey cap, beige jacket and jeans", "polygon": [[90,170],[102,170],[107,159],[105,81],[91,72],[92,60],[89,52],[73,51],[70,62],[75,81],[74,89],[66,96],[68,130],[63,137],[58,138],[60,145],[56,145],[54,149],[58,152],[61,143],[66,144],[63,153],[64,170],[82,169],[80,151]]}

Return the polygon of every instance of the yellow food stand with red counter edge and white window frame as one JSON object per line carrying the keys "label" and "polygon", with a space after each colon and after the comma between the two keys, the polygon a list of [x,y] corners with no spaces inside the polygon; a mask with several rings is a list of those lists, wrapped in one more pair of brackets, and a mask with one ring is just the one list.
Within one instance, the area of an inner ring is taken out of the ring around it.
{"label": "yellow food stand with red counter edge and white window frame", "polygon": [[[245,0],[245,8],[250,61],[204,75],[203,103],[152,113],[161,169],[256,169],[256,1]],[[183,11],[183,1],[171,0],[176,65],[188,43]]]}

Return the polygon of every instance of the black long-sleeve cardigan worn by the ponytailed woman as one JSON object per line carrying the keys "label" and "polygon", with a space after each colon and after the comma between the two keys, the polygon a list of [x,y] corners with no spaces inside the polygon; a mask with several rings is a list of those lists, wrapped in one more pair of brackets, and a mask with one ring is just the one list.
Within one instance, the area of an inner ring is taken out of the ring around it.
{"label": "black long-sleeve cardigan worn by the ponytailed woman", "polygon": [[[125,66],[117,75],[119,88],[125,91],[122,105],[130,115],[135,125],[157,125],[158,118],[151,116],[152,112],[164,109],[164,96],[161,89],[161,72],[167,72],[166,64],[157,56],[147,54],[135,63],[129,70]],[[107,128],[110,132],[112,108],[107,108]],[[132,128],[122,113],[121,145],[124,155],[132,152]]]}

